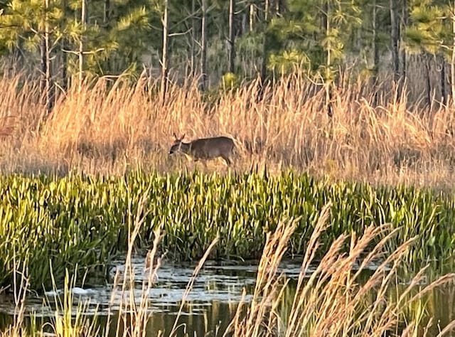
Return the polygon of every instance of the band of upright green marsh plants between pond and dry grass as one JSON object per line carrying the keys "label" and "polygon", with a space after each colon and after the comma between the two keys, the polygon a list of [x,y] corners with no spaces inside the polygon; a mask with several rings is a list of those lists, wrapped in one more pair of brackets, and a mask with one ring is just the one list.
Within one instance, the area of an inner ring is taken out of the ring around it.
{"label": "band of upright green marsh plants between pond and dry grass", "polygon": [[454,252],[455,197],[428,189],[333,183],[292,171],[276,176],[141,171],[120,177],[9,175],[0,178],[1,286],[12,284],[16,260],[28,263],[36,290],[50,286],[50,265],[43,261],[52,262],[60,281],[65,269],[75,267],[106,274],[109,261],[127,251],[125,215],[136,212],[144,193],[146,225],[135,248],[146,251],[154,229],[163,228],[160,250],[172,260],[199,259],[217,236],[220,245],[211,258],[257,259],[267,232],[283,218],[297,217],[287,255],[304,255],[326,203],[332,207],[329,228],[319,237],[322,253],[339,235],[361,235],[369,225],[384,223],[397,228],[387,242],[389,252],[417,237],[404,259],[410,269],[427,262],[446,264]]}

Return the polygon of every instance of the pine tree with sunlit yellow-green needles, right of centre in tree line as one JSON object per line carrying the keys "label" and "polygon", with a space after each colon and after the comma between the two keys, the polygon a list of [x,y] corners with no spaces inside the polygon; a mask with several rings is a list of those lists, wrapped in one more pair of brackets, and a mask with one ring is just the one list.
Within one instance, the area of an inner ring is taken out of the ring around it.
{"label": "pine tree with sunlit yellow-green needles, right of centre in tree line", "polygon": [[[267,29],[269,68],[279,73],[304,68],[323,79],[327,113],[336,69],[348,52],[348,41],[360,25],[360,2],[290,0],[287,12],[272,18]],[[319,18],[319,19],[316,19]]]}

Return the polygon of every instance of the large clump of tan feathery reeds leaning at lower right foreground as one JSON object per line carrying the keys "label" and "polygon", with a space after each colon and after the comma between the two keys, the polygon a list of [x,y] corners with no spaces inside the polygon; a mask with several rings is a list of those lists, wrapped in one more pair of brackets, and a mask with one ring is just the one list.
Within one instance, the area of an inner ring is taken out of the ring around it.
{"label": "large clump of tan feathery reeds leaning at lower right foreground", "polygon": [[[397,268],[414,241],[414,239],[408,240],[395,252],[384,257],[382,249],[387,245],[387,240],[397,232],[393,230],[387,233],[387,225],[366,228],[358,240],[354,234],[351,235],[350,249],[347,253],[343,253],[346,236],[338,237],[317,264],[314,272],[307,275],[307,270],[314,262],[315,251],[319,246],[319,235],[326,228],[328,214],[327,205],[322,210],[309,240],[288,318],[285,321],[279,319],[286,315],[279,314],[278,311],[287,282],[284,282],[284,285],[277,282],[276,270],[281,261],[282,251],[287,247],[285,238],[293,230],[291,224],[286,230],[278,226],[277,232],[267,237],[268,247],[274,246],[279,249],[264,249],[261,261],[263,266],[267,266],[267,272],[259,267],[252,303],[247,307],[245,316],[242,316],[243,309],[237,310],[226,333],[232,333],[232,336],[380,337],[387,331],[394,331],[397,328],[405,309],[414,301],[421,299],[435,287],[455,280],[455,274],[446,274],[423,289],[417,289],[417,285],[424,277],[426,271],[424,268],[400,293],[396,301],[387,299],[387,291],[397,279]],[[369,244],[378,236],[382,237],[382,240],[372,252],[363,257]],[[280,245],[276,245],[277,240]],[[358,278],[362,270],[365,270],[368,263],[378,259],[382,262],[373,275],[367,282],[360,282]],[[359,269],[356,270],[357,262],[359,262]],[[375,294],[375,298],[367,301],[367,294]],[[240,319],[240,316],[243,318]],[[414,335],[418,328],[418,321],[407,322],[402,336]],[[450,328],[451,324],[444,332],[449,331]]]}

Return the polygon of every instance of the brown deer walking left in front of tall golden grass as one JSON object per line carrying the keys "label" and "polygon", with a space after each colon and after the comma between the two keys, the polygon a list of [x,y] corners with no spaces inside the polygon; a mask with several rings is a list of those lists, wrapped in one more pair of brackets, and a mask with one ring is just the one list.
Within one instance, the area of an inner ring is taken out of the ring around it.
{"label": "brown deer walking left in front of tall golden grass", "polygon": [[215,159],[221,157],[224,159],[226,164],[230,166],[230,156],[234,151],[234,141],[229,137],[210,137],[200,138],[190,141],[189,143],[183,143],[185,134],[178,138],[176,134],[173,134],[174,143],[169,149],[169,154],[175,154],[181,152],[186,156],[193,158],[194,161],[203,160],[205,166],[205,160]]}

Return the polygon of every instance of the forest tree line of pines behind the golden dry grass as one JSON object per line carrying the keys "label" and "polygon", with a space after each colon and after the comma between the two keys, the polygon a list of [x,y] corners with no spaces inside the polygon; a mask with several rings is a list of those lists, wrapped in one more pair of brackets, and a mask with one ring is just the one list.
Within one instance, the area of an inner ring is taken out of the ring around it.
{"label": "forest tree line of pines behind the golden dry grass", "polygon": [[[200,89],[303,72],[326,100],[343,69],[395,82],[417,55],[431,93],[455,96],[455,0],[0,0],[3,71],[55,88],[127,74],[197,78]],[[36,71],[38,70],[38,71]],[[223,80],[223,81],[222,81]],[[329,112],[330,114],[330,112]]]}

